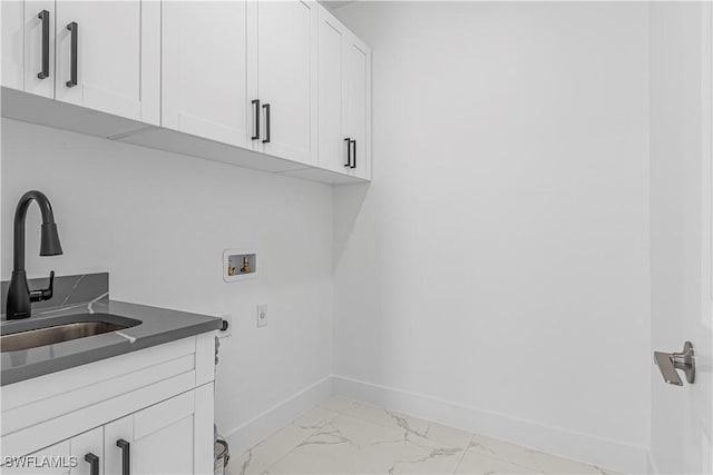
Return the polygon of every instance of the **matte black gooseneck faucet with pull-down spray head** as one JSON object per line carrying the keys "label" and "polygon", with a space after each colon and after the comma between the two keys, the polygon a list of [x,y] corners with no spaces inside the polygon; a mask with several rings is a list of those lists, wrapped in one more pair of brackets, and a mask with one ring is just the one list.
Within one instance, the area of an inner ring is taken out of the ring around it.
{"label": "matte black gooseneck faucet with pull-down spray head", "polygon": [[40,256],[58,256],[62,254],[59,245],[59,235],[57,234],[57,225],[55,224],[55,215],[52,206],[47,197],[40,191],[33,190],[22,195],[18,207],[14,210],[14,255],[12,278],[10,279],[10,288],[8,289],[8,320],[19,320],[29,318],[33,301],[49,300],[52,298],[52,288],[55,284],[55,271],[49,274],[49,287],[41,290],[31,290],[27,285],[27,275],[25,274],[25,218],[27,209],[32,200],[37,201],[42,214],[42,231],[40,238]]}

